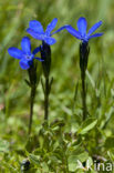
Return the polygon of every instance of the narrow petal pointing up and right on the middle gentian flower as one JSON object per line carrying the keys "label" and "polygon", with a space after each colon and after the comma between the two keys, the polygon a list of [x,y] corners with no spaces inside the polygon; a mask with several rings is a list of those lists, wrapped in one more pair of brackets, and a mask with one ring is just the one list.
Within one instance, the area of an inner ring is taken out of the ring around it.
{"label": "narrow petal pointing up and right on the middle gentian flower", "polygon": [[58,19],[54,18],[54,19],[48,24],[46,30],[45,30],[46,35],[50,35],[51,31],[55,28],[56,22],[58,22]]}

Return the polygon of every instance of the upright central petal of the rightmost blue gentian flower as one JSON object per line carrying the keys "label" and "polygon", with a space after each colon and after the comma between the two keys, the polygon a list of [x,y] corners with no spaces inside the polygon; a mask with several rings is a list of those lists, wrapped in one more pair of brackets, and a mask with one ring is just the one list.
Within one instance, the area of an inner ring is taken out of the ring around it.
{"label": "upright central petal of the rightmost blue gentian flower", "polygon": [[79,32],[82,34],[82,37],[86,34],[86,27],[87,27],[87,23],[86,23],[85,18],[80,18],[77,20],[77,29],[79,29]]}

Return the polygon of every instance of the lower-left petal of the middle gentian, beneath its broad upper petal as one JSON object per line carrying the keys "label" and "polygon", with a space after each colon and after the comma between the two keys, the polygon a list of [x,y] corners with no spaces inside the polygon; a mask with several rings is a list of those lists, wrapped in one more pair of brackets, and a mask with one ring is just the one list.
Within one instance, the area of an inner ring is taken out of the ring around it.
{"label": "lower-left petal of the middle gentian, beneath its broad upper petal", "polygon": [[29,34],[31,34],[37,40],[44,40],[44,34],[37,33],[32,29],[30,29],[30,28],[27,29],[27,32]]}

